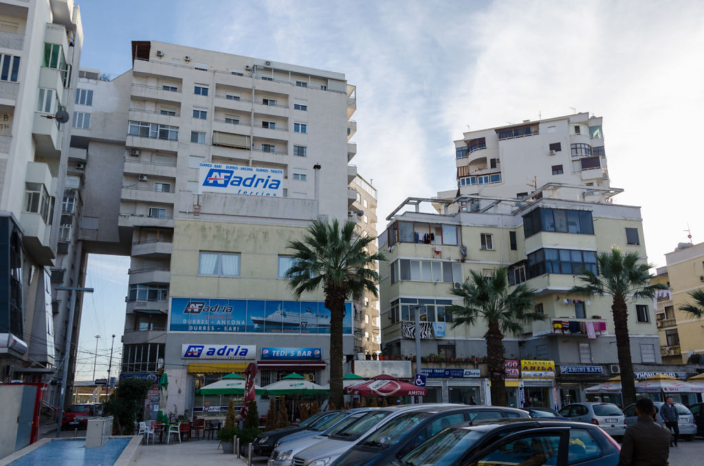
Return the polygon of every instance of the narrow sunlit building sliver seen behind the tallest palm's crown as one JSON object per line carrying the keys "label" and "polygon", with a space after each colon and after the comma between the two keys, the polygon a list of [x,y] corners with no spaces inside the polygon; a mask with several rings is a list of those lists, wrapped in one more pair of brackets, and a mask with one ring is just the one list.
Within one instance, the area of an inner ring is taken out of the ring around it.
{"label": "narrow sunlit building sliver seen behind the tallest palm's crown", "polygon": [[[357,222],[360,236],[377,236],[377,189],[363,177],[357,175],[357,167],[348,166],[347,217]],[[370,254],[378,251],[376,241],[370,244]],[[377,265],[378,267],[378,265]],[[379,298],[369,291],[354,303],[354,352],[372,355],[379,352]]]}

